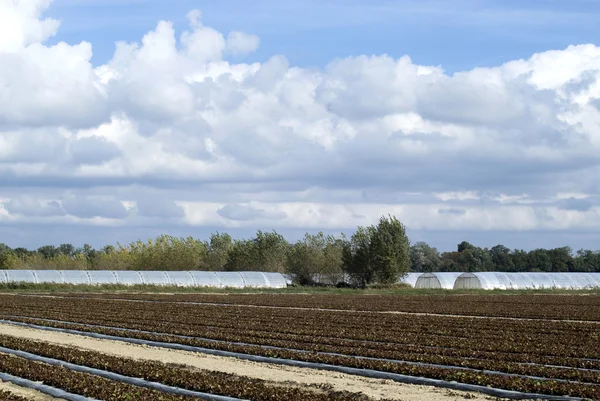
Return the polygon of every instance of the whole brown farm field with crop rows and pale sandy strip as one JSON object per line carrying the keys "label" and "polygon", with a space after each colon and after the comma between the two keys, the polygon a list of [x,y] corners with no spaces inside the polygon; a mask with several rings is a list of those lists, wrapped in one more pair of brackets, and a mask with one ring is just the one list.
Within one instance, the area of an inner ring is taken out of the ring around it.
{"label": "whole brown farm field with crop rows and pale sandy strip", "polygon": [[6,350],[240,399],[600,399],[599,309],[580,293],[0,294],[0,371],[111,400],[165,394]]}

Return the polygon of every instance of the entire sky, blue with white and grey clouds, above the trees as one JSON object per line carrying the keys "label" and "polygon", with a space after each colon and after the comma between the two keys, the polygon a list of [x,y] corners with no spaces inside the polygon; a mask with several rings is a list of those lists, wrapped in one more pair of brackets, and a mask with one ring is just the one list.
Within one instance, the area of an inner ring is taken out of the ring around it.
{"label": "entire sky, blue with white and grey clouds, above the trees", "polygon": [[600,3],[0,0],[0,242],[600,249]]}

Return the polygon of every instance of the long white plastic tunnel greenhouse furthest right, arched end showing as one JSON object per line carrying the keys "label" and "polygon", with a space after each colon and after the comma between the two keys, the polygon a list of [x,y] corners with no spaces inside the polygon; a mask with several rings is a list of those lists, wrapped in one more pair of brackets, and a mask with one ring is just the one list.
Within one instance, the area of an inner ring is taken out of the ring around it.
{"label": "long white plastic tunnel greenhouse furthest right, arched end showing", "polygon": [[463,273],[455,289],[587,289],[600,287],[600,273]]}

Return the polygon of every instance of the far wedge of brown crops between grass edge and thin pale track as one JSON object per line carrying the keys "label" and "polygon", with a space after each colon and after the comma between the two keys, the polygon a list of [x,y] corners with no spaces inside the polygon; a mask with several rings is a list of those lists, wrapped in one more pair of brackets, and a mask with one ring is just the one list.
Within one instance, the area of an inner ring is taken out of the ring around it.
{"label": "far wedge of brown crops between grass edge and thin pale track", "polygon": [[[80,297],[80,295],[64,294]],[[85,295],[163,302],[207,302],[232,305],[319,309],[398,311],[530,319],[600,321],[600,295],[303,295],[303,294],[102,294]]]}

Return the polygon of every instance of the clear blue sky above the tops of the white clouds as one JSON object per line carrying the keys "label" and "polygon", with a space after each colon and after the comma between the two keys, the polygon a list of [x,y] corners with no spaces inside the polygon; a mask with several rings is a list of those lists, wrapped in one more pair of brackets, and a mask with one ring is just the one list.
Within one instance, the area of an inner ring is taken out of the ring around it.
{"label": "clear blue sky above the tops of the white clouds", "polygon": [[283,54],[307,67],[387,53],[452,73],[600,41],[593,0],[56,0],[48,15],[62,20],[56,40],[90,41],[94,63],[104,63],[115,41],[135,41],[160,19],[182,29],[192,8],[219,31],[258,35],[261,48],[247,60]]}

